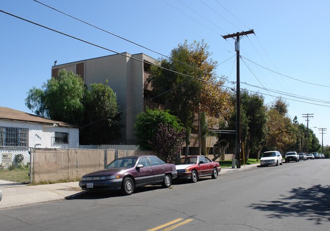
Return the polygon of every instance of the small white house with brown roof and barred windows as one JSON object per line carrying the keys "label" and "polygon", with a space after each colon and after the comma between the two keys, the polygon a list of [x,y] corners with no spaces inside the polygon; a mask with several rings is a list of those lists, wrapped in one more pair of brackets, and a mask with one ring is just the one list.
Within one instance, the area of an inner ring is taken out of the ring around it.
{"label": "small white house with brown roof and barred windows", "polygon": [[78,126],[0,107],[0,168],[30,162],[30,148],[78,146]]}

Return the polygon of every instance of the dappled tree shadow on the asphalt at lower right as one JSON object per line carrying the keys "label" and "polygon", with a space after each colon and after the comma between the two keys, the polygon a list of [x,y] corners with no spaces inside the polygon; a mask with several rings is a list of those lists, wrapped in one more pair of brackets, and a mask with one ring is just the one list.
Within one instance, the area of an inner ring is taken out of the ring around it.
{"label": "dappled tree shadow on the asphalt at lower right", "polygon": [[287,216],[305,217],[315,221],[315,224],[330,221],[330,185],[314,185],[310,188],[293,188],[289,196],[282,196],[279,201],[261,201],[251,204],[256,210],[273,212],[269,218],[283,218]]}

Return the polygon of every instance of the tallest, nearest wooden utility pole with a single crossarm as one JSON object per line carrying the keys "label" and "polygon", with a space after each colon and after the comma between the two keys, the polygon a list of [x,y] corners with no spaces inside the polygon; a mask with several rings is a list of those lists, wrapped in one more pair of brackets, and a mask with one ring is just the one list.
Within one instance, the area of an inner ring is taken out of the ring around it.
{"label": "tallest, nearest wooden utility pole with a single crossarm", "polygon": [[237,169],[241,169],[241,84],[239,80],[239,37],[254,34],[253,29],[249,31],[237,32],[235,34],[222,36],[224,39],[236,38],[236,159]]}

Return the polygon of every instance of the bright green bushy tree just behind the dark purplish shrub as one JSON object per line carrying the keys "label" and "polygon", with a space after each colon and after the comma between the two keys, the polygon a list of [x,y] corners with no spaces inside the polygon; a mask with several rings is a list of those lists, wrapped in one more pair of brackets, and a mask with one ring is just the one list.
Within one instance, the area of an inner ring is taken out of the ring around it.
{"label": "bright green bushy tree just behind the dark purplish shrub", "polygon": [[137,115],[134,124],[139,150],[157,150],[156,136],[159,124],[168,125],[175,131],[181,131],[183,124],[169,110],[149,109]]}

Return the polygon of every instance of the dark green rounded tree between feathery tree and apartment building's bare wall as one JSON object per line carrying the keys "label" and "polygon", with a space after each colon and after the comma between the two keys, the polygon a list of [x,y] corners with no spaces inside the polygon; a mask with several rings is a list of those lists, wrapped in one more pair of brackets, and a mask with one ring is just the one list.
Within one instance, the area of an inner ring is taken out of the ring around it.
{"label": "dark green rounded tree between feathery tree and apartment building's bare wall", "polygon": [[81,144],[109,144],[121,138],[117,97],[107,83],[93,83],[85,94]]}

